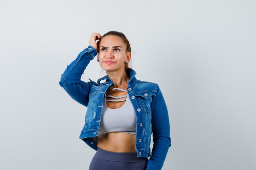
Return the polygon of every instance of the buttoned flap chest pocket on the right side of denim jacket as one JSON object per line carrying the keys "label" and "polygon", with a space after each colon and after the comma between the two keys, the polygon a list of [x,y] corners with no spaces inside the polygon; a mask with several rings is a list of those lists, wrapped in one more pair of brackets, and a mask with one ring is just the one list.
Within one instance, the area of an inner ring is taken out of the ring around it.
{"label": "buttoned flap chest pocket on the right side of denim jacket", "polygon": [[141,91],[135,92],[134,95],[138,99],[139,106],[148,115],[150,115],[150,105],[152,102],[152,97],[155,96],[156,91]]}

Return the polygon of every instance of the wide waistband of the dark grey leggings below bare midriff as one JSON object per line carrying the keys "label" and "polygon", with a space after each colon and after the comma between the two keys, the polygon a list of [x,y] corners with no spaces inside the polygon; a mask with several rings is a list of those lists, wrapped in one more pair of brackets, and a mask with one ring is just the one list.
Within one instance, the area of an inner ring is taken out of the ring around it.
{"label": "wide waistband of the dark grey leggings below bare midriff", "polygon": [[95,156],[109,161],[144,162],[148,160],[146,157],[137,157],[136,152],[111,152],[99,147]]}

